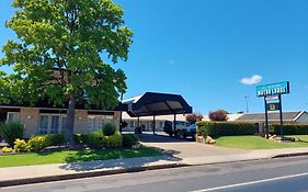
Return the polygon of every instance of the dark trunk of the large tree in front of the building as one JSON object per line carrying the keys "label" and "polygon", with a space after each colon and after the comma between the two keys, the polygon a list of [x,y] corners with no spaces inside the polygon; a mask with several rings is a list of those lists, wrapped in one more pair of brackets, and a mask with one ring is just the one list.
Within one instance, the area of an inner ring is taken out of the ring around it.
{"label": "dark trunk of the large tree in front of the building", "polygon": [[67,111],[67,133],[66,140],[69,145],[73,145],[73,122],[75,122],[75,106],[76,106],[76,98],[71,93],[69,97],[68,111]]}

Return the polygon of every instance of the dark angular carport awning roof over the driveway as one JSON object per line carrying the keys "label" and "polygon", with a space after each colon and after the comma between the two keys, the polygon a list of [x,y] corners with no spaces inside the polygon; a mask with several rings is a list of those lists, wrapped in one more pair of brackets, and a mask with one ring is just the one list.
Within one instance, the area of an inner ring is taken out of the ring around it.
{"label": "dark angular carport awning roof over the driveway", "polygon": [[182,95],[156,92],[124,100],[117,110],[126,111],[132,117],[192,113],[192,106]]}

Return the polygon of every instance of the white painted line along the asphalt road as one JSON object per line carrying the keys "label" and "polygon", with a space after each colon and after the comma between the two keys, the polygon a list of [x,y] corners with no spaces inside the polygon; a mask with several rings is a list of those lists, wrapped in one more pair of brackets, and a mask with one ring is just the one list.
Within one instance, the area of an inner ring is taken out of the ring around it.
{"label": "white painted line along the asphalt road", "polygon": [[277,180],[283,180],[283,179],[298,178],[298,177],[303,177],[303,176],[308,176],[308,172],[304,172],[304,173],[299,173],[299,174],[292,174],[292,176],[284,176],[284,177],[278,177],[278,178],[264,179],[264,180],[259,180],[259,181],[229,184],[229,185],[224,185],[224,187],[208,188],[208,189],[204,189],[204,190],[196,190],[196,191],[190,191],[190,192],[207,192],[207,191],[225,190],[225,189],[229,189],[229,188],[237,188],[237,187],[244,187],[244,185],[258,184],[258,183],[270,182],[270,181],[277,181]]}

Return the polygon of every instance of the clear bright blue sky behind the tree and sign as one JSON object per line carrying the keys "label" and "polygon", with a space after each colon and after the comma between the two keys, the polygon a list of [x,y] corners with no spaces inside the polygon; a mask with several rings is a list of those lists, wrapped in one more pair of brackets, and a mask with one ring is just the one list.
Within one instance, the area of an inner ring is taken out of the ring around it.
{"label": "clear bright blue sky behind the tree and sign", "polygon": [[[1,46],[14,38],[3,26],[13,14],[10,2],[1,2]],[[115,2],[135,34],[128,61],[114,65],[127,75],[125,98],[180,93],[207,113],[246,111],[249,95],[249,111],[263,112],[255,87],[288,80],[284,111],[308,110],[307,0]]]}

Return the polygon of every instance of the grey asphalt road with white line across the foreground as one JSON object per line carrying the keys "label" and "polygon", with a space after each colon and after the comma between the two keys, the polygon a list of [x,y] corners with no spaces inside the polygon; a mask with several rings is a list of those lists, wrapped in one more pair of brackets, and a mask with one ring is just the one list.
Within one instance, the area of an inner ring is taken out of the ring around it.
{"label": "grey asphalt road with white line across the foreground", "polygon": [[2,188],[1,192],[308,192],[308,156]]}

